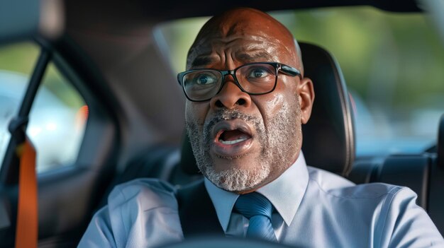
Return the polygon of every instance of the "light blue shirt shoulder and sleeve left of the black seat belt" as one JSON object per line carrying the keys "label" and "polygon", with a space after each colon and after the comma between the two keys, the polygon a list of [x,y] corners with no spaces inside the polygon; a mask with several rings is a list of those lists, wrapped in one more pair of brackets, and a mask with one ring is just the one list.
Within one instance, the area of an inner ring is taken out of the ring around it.
{"label": "light blue shirt shoulder and sleeve left of the black seat belt", "polygon": [[79,247],[157,247],[182,239],[174,187],[143,178],[114,187]]}

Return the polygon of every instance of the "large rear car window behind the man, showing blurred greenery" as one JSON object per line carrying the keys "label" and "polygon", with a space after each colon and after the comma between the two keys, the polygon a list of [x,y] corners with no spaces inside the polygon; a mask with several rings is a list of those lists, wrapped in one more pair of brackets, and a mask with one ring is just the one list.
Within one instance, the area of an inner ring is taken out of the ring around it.
{"label": "large rear car window behind the man, showing blurred greenery", "polygon": [[[427,15],[368,6],[270,14],[299,41],[325,47],[338,60],[355,110],[358,156],[419,153],[436,143],[444,49]],[[174,71],[185,70],[188,49],[206,20],[159,25],[157,43],[170,54]]]}

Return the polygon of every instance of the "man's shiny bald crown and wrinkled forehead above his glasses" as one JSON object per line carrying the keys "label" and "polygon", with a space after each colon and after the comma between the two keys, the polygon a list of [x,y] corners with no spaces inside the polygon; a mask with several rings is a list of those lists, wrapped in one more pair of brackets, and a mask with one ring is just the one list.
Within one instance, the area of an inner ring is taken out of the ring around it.
{"label": "man's shiny bald crown and wrinkled forehead above his glasses", "polygon": [[294,38],[267,13],[228,11],[211,18],[189,50],[187,69],[209,64],[211,54],[229,53],[239,61],[278,61],[299,68]]}

